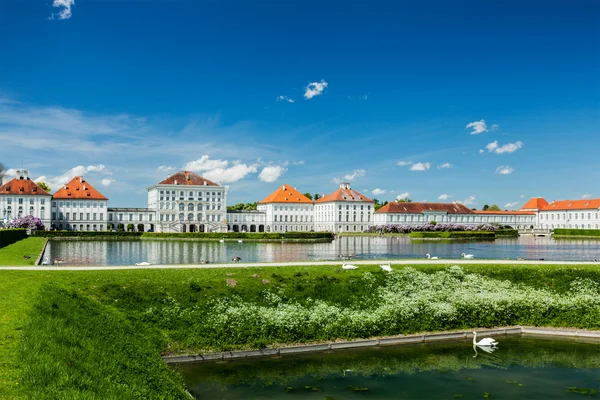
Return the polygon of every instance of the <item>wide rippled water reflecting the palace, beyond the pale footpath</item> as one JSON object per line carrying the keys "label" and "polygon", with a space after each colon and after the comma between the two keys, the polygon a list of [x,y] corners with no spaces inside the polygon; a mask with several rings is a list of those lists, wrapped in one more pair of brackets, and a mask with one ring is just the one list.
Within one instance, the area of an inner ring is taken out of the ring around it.
{"label": "wide rippled water reflecting the palace, beyond the pale footpath", "polygon": [[252,243],[135,240],[51,240],[44,261],[64,260],[62,265],[199,264],[231,262],[285,262],[355,259],[425,259],[426,254],[442,259],[459,259],[462,253],[475,259],[594,261],[600,260],[600,240],[555,240],[521,236],[495,241],[411,241],[406,236],[340,237],[327,243]]}

